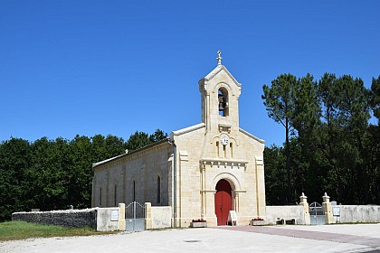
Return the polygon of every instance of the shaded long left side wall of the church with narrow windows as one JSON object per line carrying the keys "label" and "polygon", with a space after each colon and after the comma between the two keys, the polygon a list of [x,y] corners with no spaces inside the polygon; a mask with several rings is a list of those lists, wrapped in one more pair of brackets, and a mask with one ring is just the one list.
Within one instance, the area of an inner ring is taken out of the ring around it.
{"label": "shaded long left side wall of the church with narrow windows", "polygon": [[132,201],[169,205],[168,159],[172,153],[173,146],[162,141],[94,164],[91,207]]}

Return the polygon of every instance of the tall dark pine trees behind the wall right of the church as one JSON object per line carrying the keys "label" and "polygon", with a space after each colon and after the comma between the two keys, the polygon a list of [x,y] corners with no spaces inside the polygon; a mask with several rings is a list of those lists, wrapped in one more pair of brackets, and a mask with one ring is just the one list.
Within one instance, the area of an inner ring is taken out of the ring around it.
{"label": "tall dark pine trees behind the wall right of the church", "polygon": [[[380,204],[380,76],[370,89],[349,75],[281,74],[263,85],[268,116],[284,127],[265,148],[267,204],[320,201]],[[377,124],[371,122],[377,121]]]}

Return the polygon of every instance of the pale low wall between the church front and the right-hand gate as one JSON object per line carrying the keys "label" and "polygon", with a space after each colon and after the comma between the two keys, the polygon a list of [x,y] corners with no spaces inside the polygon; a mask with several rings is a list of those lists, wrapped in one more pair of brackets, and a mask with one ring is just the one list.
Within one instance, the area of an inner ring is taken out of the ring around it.
{"label": "pale low wall between the church front and the right-hand gate", "polygon": [[[308,214],[309,215],[309,214]],[[265,224],[276,224],[279,220],[292,220],[296,224],[306,224],[302,206],[267,206]]]}

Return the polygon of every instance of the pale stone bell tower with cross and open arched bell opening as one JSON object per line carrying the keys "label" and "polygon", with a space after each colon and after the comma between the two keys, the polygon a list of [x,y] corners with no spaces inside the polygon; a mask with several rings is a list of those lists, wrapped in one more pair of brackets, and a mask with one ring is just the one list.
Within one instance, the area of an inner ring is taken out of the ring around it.
{"label": "pale stone bell tower with cross and open arched bell opening", "polygon": [[202,101],[202,122],[206,126],[206,133],[237,134],[242,84],[223,66],[220,51],[217,55],[216,68],[198,82]]}

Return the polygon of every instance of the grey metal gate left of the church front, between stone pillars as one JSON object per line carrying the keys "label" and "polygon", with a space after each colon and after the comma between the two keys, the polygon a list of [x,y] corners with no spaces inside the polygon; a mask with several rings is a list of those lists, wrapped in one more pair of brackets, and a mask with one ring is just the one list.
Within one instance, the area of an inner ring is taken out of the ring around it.
{"label": "grey metal gate left of the church front, between stone pillars", "polygon": [[133,201],[126,207],[126,231],[145,230],[145,206]]}

